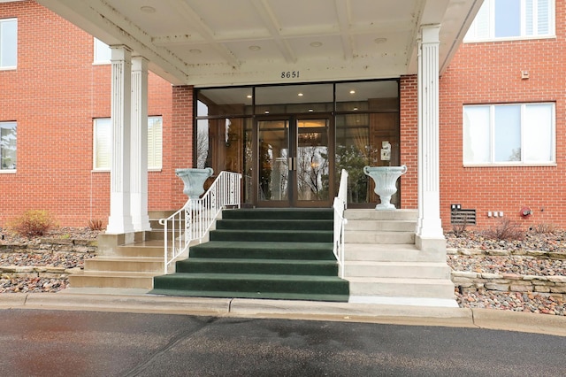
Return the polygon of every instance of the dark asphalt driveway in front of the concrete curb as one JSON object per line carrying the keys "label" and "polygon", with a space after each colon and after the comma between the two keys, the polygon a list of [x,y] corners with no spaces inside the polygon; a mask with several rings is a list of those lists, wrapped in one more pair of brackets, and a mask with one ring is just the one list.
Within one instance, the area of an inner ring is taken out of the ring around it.
{"label": "dark asphalt driveway in front of the concrete curb", "polygon": [[564,376],[566,337],[454,327],[0,311],[2,376]]}

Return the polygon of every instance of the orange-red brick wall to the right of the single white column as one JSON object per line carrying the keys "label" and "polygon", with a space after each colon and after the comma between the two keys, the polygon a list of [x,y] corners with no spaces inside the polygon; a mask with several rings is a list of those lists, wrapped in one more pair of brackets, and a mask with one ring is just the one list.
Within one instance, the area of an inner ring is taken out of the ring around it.
{"label": "orange-red brick wall to the right of the single white column", "polygon": [[[556,2],[556,38],[464,43],[440,78],[440,213],[450,228],[450,204],[476,209],[478,227],[493,227],[502,211],[524,227],[566,227],[566,3]],[[521,79],[521,71],[530,73]],[[548,101],[556,104],[556,165],[463,167],[463,105]],[[522,218],[521,207],[533,210]]]}

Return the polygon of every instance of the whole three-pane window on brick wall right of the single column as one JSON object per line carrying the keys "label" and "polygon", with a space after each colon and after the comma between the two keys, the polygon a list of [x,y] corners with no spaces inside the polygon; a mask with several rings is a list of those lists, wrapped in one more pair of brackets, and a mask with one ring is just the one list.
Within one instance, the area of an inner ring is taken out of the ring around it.
{"label": "whole three-pane window on brick wall right of the single column", "polygon": [[464,106],[464,165],[554,163],[555,104]]}

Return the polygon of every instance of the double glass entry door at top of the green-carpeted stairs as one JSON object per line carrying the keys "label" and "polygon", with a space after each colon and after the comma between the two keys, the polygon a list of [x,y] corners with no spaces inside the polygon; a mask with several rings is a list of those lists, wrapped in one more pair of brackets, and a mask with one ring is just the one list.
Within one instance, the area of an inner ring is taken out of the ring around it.
{"label": "double glass entry door at top of the green-carpeted stairs", "polygon": [[329,117],[257,119],[258,206],[331,205],[330,129]]}

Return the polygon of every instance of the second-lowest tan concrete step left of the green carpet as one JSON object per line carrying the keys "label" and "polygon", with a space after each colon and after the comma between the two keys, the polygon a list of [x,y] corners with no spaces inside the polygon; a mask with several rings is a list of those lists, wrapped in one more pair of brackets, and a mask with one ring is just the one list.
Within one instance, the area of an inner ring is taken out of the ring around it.
{"label": "second-lowest tan concrete step left of the green carpet", "polygon": [[162,273],[164,257],[96,257],[85,260],[85,270],[90,273],[96,271]]}

